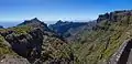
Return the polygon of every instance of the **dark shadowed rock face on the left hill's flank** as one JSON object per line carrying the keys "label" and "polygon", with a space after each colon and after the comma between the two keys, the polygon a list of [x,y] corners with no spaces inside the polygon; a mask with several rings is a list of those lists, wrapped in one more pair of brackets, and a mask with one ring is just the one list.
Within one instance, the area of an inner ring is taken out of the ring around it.
{"label": "dark shadowed rock face on the left hill's flank", "polygon": [[11,44],[12,50],[28,60],[38,58],[41,56],[43,32],[34,29],[28,34],[14,35],[8,33],[4,39]]}

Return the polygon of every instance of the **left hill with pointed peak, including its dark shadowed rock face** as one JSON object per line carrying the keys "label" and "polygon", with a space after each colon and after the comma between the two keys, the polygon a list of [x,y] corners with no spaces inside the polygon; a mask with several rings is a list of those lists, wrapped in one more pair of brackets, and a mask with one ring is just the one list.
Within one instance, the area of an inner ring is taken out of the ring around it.
{"label": "left hill with pointed peak, including its dark shadowed rock face", "polygon": [[30,63],[61,63],[70,58],[62,51],[66,42],[36,18],[14,28],[1,29],[0,34],[15,53]]}

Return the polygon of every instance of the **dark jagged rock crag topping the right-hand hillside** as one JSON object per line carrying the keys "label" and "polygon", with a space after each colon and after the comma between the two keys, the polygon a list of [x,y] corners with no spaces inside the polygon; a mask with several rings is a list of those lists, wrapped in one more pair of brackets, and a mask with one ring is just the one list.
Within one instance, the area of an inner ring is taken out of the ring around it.
{"label": "dark jagged rock crag topping the right-hand hillside", "polygon": [[122,20],[124,17],[130,15],[132,15],[132,10],[114,11],[106,14],[100,14],[99,18],[97,19],[97,22],[103,20],[117,22],[118,20]]}

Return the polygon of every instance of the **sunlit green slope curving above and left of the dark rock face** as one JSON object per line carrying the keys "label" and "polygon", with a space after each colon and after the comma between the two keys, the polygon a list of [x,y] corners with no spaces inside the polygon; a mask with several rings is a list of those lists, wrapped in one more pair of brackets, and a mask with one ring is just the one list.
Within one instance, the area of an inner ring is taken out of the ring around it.
{"label": "sunlit green slope curving above and left of the dark rock face", "polygon": [[18,53],[15,53],[12,50],[11,44],[4,38],[4,35],[13,31],[15,32],[15,33],[12,33],[13,35],[26,34],[26,32],[30,31],[30,26],[29,28],[18,26],[18,28],[11,28],[11,29],[0,29],[0,60],[6,58],[6,57],[12,57],[12,58],[20,57],[20,55],[18,55]]}

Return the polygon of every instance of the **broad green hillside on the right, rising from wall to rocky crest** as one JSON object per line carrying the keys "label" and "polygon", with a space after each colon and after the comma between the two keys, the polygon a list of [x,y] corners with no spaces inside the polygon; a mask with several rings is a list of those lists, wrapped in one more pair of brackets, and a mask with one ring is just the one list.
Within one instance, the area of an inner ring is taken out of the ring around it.
{"label": "broad green hillside on the right, rising from wall to rocky crest", "polygon": [[91,31],[78,33],[69,44],[75,64],[101,64],[128,39],[132,38],[132,11],[114,11],[99,15]]}

